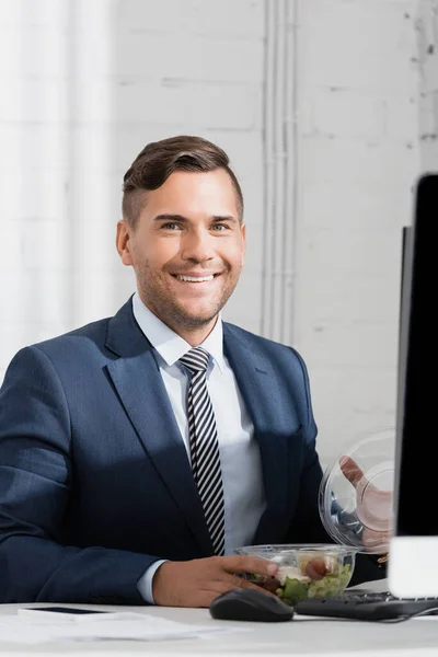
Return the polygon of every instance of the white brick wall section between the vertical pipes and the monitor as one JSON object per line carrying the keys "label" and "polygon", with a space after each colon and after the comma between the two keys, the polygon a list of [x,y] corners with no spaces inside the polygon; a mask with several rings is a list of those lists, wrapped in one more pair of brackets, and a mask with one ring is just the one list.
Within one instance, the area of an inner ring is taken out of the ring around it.
{"label": "white brick wall section between the vertical pipes and the monitor", "polygon": [[417,2],[300,8],[295,336],[326,462],[394,425],[402,226],[418,172]]}

